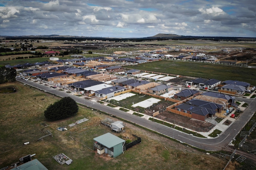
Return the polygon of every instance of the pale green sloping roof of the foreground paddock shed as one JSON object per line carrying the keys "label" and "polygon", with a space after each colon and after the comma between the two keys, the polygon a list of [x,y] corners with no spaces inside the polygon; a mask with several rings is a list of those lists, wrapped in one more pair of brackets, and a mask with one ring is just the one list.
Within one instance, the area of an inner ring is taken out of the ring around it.
{"label": "pale green sloping roof of the foreground paddock shed", "polygon": [[97,141],[98,143],[106,146],[107,148],[112,148],[119,143],[125,142],[125,140],[111,134],[111,133],[106,133],[104,135],[95,137],[93,140]]}

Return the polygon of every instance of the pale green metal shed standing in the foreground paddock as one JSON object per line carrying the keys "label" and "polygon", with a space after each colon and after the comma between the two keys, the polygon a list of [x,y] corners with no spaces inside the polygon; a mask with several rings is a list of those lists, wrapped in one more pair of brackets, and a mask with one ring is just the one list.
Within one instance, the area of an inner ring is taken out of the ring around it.
{"label": "pale green metal shed standing in the foreground paddock", "polygon": [[124,143],[125,140],[111,133],[106,133],[93,139],[94,150],[97,150],[99,155],[105,153],[113,158],[124,153]]}

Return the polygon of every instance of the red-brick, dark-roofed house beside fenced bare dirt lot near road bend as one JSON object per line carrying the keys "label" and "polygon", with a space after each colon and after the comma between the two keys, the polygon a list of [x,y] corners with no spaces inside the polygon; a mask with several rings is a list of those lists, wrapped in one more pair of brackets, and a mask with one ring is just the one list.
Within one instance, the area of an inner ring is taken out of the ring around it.
{"label": "red-brick, dark-roofed house beside fenced bare dirt lot near road bend", "polygon": [[187,103],[182,103],[175,107],[175,110],[187,114],[191,114],[191,118],[205,121],[207,118],[215,117],[216,111],[205,107],[194,106]]}

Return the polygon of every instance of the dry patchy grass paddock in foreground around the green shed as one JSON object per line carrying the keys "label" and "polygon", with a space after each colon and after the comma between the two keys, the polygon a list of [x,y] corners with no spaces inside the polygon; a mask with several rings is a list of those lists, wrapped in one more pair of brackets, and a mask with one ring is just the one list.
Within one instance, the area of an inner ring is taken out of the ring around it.
{"label": "dry patchy grass paddock in foreground around the green shed", "polygon": [[[61,121],[47,121],[43,111],[49,104],[59,98],[43,91],[30,88],[21,83],[0,85],[14,86],[15,93],[0,94],[0,167],[10,166],[19,158],[28,154],[36,154],[37,158],[48,169],[223,169],[226,161],[214,157],[214,153],[206,155],[192,148],[175,143],[172,140],[148,132],[145,129],[125,123],[127,133],[135,134],[142,143],[130,148],[114,159],[98,156],[92,148],[93,138],[110,129],[100,124],[104,114],[92,113],[91,109],[79,107],[76,116]],[[74,127],[67,125],[86,117],[89,121]],[[40,123],[49,124],[42,127]],[[67,131],[57,131],[58,127],[67,127]],[[49,130],[53,137],[44,137]],[[116,134],[120,135],[120,134]],[[69,136],[74,137],[73,139]],[[28,145],[23,143],[30,142]],[[88,147],[87,147],[88,146]],[[165,148],[166,147],[166,148]],[[167,150],[168,149],[168,150]],[[73,160],[69,166],[60,165],[52,156],[66,154]]]}

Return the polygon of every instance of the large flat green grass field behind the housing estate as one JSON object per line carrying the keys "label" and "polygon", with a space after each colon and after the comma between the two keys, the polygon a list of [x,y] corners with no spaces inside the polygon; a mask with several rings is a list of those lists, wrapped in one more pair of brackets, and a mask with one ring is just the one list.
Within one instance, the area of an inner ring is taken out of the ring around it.
{"label": "large flat green grass field behind the housing estate", "polygon": [[217,80],[239,80],[256,85],[256,71],[253,68],[233,67],[220,64],[205,64],[188,61],[154,61],[134,66],[125,66],[131,69],[162,72],[173,75],[202,77]]}

